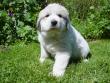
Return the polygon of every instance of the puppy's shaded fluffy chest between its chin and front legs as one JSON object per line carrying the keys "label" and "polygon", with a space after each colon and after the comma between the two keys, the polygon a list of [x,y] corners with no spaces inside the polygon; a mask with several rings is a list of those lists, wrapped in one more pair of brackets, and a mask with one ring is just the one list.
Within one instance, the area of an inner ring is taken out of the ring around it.
{"label": "puppy's shaded fluffy chest between its chin and front legs", "polygon": [[57,52],[68,51],[71,48],[67,35],[61,34],[56,36],[42,37],[42,42],[45,49],[51,54],[55,55]]}

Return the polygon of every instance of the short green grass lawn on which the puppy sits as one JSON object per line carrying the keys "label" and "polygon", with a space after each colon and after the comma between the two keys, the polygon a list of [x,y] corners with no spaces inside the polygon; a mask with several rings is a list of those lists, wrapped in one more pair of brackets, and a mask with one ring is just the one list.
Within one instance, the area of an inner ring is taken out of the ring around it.
{"label": "short green grass lawn on which the puppy sits", "polygon": [[39,63],[37,43],[0,49],[0,83],[110,83],[110,40],[91,41],[89,45],[89,62],[70,64],[60,78],[48,75],[54,61]]}

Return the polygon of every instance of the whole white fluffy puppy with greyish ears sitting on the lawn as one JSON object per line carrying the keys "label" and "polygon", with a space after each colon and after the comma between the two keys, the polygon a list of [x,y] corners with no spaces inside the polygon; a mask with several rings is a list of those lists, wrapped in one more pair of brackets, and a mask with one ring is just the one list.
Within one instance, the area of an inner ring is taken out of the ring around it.
{"label": "whole white fluffy puppy with greyish ears sitting on the lawn", "polygon": [[71,59],[86,59],[90,49],[82,35],[70,24],[69,13],[59,4],[49,4],[39,14],[40,62],[51,54],[55,58],[52,74],[62,76]]}

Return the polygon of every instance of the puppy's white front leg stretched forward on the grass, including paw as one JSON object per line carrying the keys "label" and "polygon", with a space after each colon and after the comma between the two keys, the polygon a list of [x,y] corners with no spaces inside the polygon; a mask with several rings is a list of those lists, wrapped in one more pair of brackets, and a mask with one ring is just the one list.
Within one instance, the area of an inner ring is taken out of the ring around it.
{"label": "puppy's white front leg stretched forward on the grass, including paw", "polygon": [[57,53],[55,56],[55,64],[53,66],[53,76],[59,77],[63,76],[65,69],[69,63],[70,53],[62,52]]}

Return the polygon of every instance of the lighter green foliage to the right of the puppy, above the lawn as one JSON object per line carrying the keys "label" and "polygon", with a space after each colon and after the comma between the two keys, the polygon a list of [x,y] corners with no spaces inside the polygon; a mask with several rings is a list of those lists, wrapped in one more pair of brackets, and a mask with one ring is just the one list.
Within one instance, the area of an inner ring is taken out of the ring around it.
{"label": "lighter green foliage to the right of the puppy, above the lawn", "polygon": [[64,1],[72,24],[85,38],[110,38],[110,0]]}

